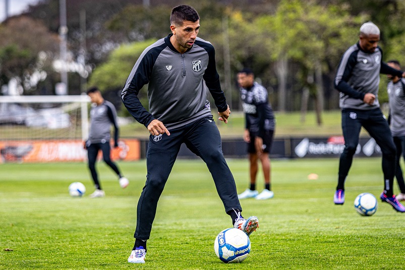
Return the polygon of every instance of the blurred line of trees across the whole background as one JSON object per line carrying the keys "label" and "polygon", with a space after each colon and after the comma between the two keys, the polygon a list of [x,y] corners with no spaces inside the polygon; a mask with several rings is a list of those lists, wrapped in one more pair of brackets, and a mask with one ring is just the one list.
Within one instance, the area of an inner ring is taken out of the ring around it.
{"label": "blurred line of trees across the whole background", "polygon": [[[186,2],[199,12],[199,37],[216,49],[222,87],[234,110],[241,109],[236,72],[250,67],[269,90],[275,110],[314,109],[321,123],[322,110],[338,106],[333,78],[341,55],[358,41],[359,28],[367,21],[381,30],[383,60],[405,60],[403,1]],[[67,0],[70,94],[96,84],[111,98],[119,97],[142,50],[170,32],[171,8],[184,4],[149,3]],[[14,79],[24,94],[53,94],[60,81],[55,66],[58,31],[59,0],[42,0],[0,24],[0,85]],[[382,102],[385,83],[381,80]],[[146,99],[146,91],[141,98]]]}

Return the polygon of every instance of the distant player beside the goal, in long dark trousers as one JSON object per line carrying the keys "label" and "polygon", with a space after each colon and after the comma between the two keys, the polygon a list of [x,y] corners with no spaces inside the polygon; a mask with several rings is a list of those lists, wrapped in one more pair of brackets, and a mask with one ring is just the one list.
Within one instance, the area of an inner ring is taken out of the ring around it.
{"label": "distant player beside the goal, in long dark trousers", "polygon": [[114,147],[118,147],[119,128],[115,107],[111,102],[102,97],[101,92],[97,87],[89,88],[87,94],[90,96],[93,106],[90,110],[89,138],[85,141],[84,148],[87,149],[89,169],[95,186],[95,191],[90,194],[90,197],[97,198],[105,196],[105,192],[101,188],[95,168],[98,151],[100,149],[103,153],[105,164],[107,164],[118,175],[120,186],[126,188],[129,181],[121,174],[117,165],[111,161],[110,157],[109,143],[111,125],[114,126]]}

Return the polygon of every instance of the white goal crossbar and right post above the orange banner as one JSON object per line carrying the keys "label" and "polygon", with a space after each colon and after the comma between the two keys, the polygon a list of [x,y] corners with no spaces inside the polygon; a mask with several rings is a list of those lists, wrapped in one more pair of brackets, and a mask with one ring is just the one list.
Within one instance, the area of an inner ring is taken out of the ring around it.
{"label": "white goal crossbar and right post above the orange banner", "polygon": [[67,103],[79,102],[81,106],[82,139],[86,140],[89,135],[88,103],[90,97],[82,95],[4,95],[0,96],[0,103]]}

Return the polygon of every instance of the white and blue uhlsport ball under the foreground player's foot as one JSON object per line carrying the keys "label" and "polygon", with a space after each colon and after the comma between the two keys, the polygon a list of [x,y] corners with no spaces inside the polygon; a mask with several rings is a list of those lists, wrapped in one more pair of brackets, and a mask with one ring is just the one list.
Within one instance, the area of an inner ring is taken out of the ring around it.
{"label": "white and blue uhlsport ball under the foreground player's foot", "polygon": [[250,239],[239,229],[225,229],[215,238],[214,250],[223,262],[242,262],[249,255]]}

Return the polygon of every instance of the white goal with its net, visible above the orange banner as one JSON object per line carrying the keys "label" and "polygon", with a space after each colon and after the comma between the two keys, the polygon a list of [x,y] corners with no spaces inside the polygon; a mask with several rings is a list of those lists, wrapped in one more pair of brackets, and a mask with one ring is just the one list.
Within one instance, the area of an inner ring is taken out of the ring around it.
{"label": "white goal with its net, visible above the orange banner", "polygon": [[[89,102],[86,94],[0,96],[0,140],[78,139],[78,136],[87,139]],[[78,123],[80,127],[73,127]],[[68,132],[68,126],[74,132]],[[60,134],[55,130],[60,130]]]}

